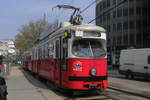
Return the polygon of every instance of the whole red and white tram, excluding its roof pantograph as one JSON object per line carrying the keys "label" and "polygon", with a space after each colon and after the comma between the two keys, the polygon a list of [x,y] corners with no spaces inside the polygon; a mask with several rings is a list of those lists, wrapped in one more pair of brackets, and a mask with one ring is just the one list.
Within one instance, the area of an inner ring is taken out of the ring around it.
{"label": "whole red and white tram, excluding its roof pantograph", "polygon": [[62,23],[24,54],[25,69],[72,90],[107,87],[106,31],[99,26]]}

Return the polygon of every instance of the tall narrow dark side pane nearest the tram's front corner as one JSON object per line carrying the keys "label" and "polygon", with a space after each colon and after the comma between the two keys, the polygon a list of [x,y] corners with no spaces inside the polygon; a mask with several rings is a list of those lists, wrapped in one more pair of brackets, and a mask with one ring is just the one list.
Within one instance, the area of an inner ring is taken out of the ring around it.
{"label": "tall narrow dark side pane nearest the tram's front corner", "polygon": [[68,62],[68,40],[63,39],[63,70],[67,70],[67,62]]}

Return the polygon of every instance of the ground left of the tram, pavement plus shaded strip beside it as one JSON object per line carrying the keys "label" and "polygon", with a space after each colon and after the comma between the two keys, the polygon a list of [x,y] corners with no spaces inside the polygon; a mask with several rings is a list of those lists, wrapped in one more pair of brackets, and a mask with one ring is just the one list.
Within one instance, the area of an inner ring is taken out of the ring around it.
{"label": "ground left of the tram, pavement plus shaded strip beside it", "polygon": [[6,83],[8,100],[64,100],[66,98],[19,67],[10,68]]}

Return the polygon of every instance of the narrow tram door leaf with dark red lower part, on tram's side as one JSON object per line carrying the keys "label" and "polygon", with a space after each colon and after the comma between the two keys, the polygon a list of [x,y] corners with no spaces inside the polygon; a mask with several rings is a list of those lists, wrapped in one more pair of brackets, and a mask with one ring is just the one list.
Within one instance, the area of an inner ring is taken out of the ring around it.
{"label": "narrow tram door leaf with dark red lower part, on tram's side", "polygon": [[61,78],[61,37],[56,40],[55,42],[56,47],[56,84],[61,87],[62,85],[62,78]]}

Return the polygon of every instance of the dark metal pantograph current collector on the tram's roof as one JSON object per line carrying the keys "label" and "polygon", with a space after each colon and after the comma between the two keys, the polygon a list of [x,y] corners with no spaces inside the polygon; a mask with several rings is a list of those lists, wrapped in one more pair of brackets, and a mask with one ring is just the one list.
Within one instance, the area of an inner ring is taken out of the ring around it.
{"label": "dark metal pantograph current collector on the tram's roof", "polygon": [[[73,25],[81,25],[83,22],[83,17],[80,15],[80,8],[74,7],[74,6],[70,6],[70,5],[57,5],[54,8],[64,8],[64,9],[73,9],[74,12],[70,17],[70,23]],[[53,9],[54,9],[53,8]]]}

